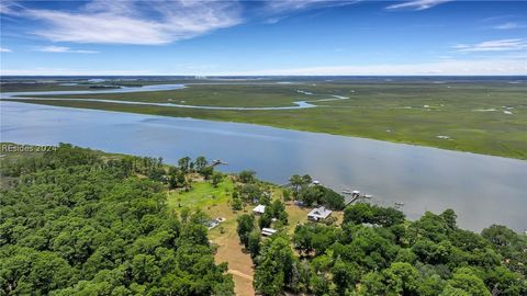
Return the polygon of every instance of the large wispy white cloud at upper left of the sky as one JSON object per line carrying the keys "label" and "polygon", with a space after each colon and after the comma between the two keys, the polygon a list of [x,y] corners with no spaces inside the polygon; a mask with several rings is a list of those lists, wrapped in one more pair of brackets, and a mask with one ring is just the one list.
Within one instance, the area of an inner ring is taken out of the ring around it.
{"label": "large wispy white cloud at upper left of the sky", "polygon": [[48,26],[34,32],[54,42],[167,44],[240,22],[237,3],[227,1],[106,1],[80,11],[25,10]]}

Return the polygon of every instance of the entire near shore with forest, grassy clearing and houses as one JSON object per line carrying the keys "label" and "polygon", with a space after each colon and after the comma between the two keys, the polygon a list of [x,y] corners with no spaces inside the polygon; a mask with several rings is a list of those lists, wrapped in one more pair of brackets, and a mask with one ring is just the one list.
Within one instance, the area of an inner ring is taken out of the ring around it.
{"label": "entire near shore with forest, grassy clearing and houses", "polygon": [[5,295],[525,295],[527,237],[408,220],[310,175],[1,144]]}

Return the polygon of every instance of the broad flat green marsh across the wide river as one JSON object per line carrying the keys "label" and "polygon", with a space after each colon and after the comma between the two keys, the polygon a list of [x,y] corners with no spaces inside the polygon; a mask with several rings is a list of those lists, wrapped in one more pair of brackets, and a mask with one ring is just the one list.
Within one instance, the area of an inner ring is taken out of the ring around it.
{"label": "broad flat green marsh across the wide river", "polygon": [[[299,93],[298,90],[312,92],[313,95]],[[441,84],[304,81],[296,84],[192,84],[175,91],[83,96],[216,106],[287,106],[292,105],[293,101],[317,100],[329,95],[345,95],[350,99],[313,102],[318,105],[314,109],[276,111],[197,110],[82,101],[25,101],[251,123],[527,159],[526,93],[527,86],[508,82]],[[506,114],[508,112],[512,114]]]}

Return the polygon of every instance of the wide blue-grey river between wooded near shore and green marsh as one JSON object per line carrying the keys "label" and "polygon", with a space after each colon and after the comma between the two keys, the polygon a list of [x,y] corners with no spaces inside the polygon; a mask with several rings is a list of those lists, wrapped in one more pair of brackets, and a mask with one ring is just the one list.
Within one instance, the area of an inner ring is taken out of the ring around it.
{"label": "wide blue-grey river between wooded near shore and green marsh", "polygon": [[527,161],[272,127],[0,102],[1,140],[78,146],[177,163],[206,156],[285,183],[309,173],[337,191],[357,189],[411,218],[453,208],[460,226],[527,228]]}

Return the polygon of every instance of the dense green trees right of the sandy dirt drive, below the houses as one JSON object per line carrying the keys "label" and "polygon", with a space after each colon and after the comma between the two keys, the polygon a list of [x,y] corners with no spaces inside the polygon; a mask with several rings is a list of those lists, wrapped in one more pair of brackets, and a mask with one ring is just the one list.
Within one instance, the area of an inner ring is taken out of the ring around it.
{"label": "dense green trees right of the sandy dirt drive, below the houses", "polygon": [[397,209],[358,203],[339,226],[300,224],[293,236],[264,239],[257,218],[243,215],[238,235],[261,295],[527,295],[526,236],[498,225],[478,235],[456,218],[447,209],[408,221]]}

